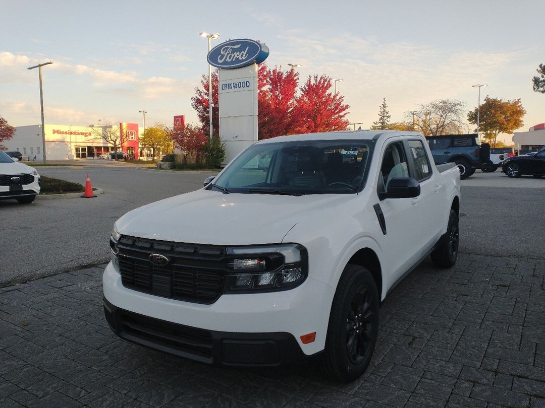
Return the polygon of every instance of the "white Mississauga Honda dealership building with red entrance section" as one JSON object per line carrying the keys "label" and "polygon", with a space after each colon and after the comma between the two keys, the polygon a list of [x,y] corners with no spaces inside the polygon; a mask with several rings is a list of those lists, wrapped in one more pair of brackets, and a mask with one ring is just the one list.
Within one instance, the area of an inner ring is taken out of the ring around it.
{"label": "white Mississauga Honda dealership building with red entrance section", "polygon": [[[128,157],[138,159],[138,124],[119,123],[119,134],[123,150]],[[49,125],[45,130],[45,157],[47,160],[72,160],[98,157],[113,151],[113,146],[100,137],[105,126]],[[3,142],[8,151],[21,152],[28,160],[43,160],[43,139],[41,125],[18,126],[10,140]]]}

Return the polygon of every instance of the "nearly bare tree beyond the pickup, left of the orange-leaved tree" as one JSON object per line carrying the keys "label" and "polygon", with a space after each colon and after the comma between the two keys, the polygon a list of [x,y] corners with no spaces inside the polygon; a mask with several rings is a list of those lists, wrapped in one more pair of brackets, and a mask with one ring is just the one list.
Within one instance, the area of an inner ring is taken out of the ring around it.
{"label": "nearly bare tree beyond the pickup, left of the orange-leaved tree", "polygon": [[417,110],[411,110],[405,115],[414,118],[415,130],[425,136],[462,133],[461,120],[465,104],[461,101],[440,99],[427,104],[420,104]]}

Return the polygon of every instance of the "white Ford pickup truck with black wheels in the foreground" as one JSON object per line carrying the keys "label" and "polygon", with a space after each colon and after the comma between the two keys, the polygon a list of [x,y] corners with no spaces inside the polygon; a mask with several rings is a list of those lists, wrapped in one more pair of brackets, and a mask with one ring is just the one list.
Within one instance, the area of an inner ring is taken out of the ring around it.
{"label": "white Ford pickup truck with black wheels in the foreground", "polygon": [[104,309],[121,338],[226,366],[365,372],[379,305],[458,255],[460,175],[415,132],[262,140],[206,187],[116,221]]}

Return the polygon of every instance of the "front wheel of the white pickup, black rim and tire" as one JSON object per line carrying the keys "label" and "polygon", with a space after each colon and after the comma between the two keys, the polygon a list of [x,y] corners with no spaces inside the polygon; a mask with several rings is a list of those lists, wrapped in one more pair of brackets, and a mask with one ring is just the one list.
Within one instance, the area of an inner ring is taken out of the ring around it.
{"label": "front wheel of the white pickup, black rim and tire", "polygon": [[370,271],[347,265],[331,305],[323,368],[332,379],[349,382],[367,369],[378,333],[379,296]]}

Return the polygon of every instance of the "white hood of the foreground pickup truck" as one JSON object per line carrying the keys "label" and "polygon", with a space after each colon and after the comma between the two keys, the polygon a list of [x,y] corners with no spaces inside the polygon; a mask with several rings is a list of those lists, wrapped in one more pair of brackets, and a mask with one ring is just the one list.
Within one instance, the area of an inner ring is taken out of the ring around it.
{"label": "white hood of the foreground pickup truck", "polygon": [[[346,194],[223,194],[197,190],[136,208],[116,230],[139,238],[212,245],[280,243],[298,222],[346,201]],[[263,233],[267,231],[267,233]],[[267,237],[267,242],[263,242]]]}

